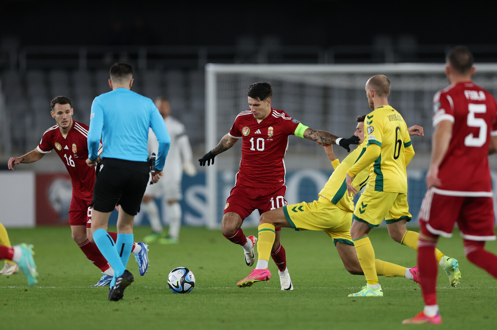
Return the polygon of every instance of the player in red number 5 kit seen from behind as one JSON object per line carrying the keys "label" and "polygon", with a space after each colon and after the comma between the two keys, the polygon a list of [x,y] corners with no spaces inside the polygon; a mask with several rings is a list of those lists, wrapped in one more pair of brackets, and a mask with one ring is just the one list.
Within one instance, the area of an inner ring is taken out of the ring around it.
{"label": "player in red number 5 kit seen from behind", "polygon": [[488,154],[497,148],[497,104],[471,81],[473,62],[468,48],[451,49],[445,66],[451,85],[435,94],[433,150],[426,174],[428,191],[419,212],[417,254],[425,307],[404,324],[442,322],[434,249],[439,236],[452,236],[456,221],[468,260],[497,278],[497,256],[484,249],[485,241],[496,239]]}

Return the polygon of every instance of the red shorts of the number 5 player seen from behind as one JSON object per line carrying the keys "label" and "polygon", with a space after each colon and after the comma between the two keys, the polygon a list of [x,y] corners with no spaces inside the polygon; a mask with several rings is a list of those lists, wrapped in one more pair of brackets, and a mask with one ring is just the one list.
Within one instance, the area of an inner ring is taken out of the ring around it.
{"label": "red shorts of the number 5 player seen from behind", "polygon": [[492,197],[439,194],[445,192],[447,191],[430,189],[424,195],[419,211],[421,233],[427,236],[451,237],[452,229],[457,221],[460,234],[466,240],[493,241],[496,239]]}

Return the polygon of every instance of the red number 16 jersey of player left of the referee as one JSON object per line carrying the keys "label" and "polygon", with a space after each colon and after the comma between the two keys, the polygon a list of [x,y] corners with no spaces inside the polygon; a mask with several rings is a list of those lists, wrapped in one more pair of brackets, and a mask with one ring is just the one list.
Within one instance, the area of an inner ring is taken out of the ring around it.
{"label": "red number 16 jersey of player left of the referee", "polygon": [[[41,153],[55,152],[61,157],[71,176],[73,196],[91,199],[95,184],[95,168],[86,165],[88,158],[88,127],[73,120],[66,136],[62,135],[59,125],[54,125],[43,133],[37,149]],[[101,152],[101,146],[98,153]]]}

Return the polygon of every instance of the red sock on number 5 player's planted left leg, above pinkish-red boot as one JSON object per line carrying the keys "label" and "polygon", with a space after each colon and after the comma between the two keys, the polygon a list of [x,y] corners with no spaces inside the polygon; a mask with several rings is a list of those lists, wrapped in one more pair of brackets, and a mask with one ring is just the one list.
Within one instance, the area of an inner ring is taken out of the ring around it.
{"label": "red sock on number 5 player's planted left leg, above pinkish-red boot", "polygon": [[435,258],[436,242],[419,239],[417,241],[417,264],[419,265],[419,281],[424,304],[436,305],[436,276],[438,264]]}

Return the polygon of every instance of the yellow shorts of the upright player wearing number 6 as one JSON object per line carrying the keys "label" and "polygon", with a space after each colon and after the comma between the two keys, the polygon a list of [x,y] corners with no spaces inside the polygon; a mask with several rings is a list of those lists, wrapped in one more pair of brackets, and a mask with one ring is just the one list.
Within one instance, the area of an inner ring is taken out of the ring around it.
{"label": "yellow shorts of the upright player wearing number 6", "polygon": [[407,194],[376,192],[366,189],[355,205],[352,218],[365,222],[369,227],[378,227],[385,219],[387,224],[399,220],[411,221]]}

